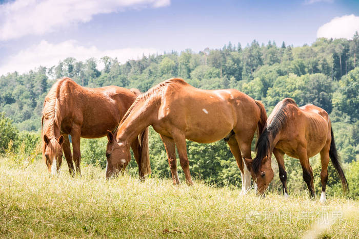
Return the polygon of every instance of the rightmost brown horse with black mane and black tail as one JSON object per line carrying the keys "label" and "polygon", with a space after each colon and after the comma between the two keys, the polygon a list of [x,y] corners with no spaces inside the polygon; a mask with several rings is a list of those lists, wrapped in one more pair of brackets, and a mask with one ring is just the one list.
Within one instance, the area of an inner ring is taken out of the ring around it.
{"label": "rightmost brown horse with black mane and black tail", "polygon": [[314,197],[313,170],[309,158],[320,153],[322,161],[322,195],[325,202],[325,188],[328,180],[328,163],[331,159],[346,191],[348,183],[338,160],[333,131],[328,113],[320,107],[307,104],[298,107],[293,99],[286,98],[277,103],[267,120],[267,127],[256,144],[254,160],[245,159],[251,168],[258,193],[264,194],[273,179],[271,155],[274,154],[279,167],[279,177],[283,193],[288,196],[287,172],[284,167],[284,154],[299,159],[303,169],[303,179]]}

